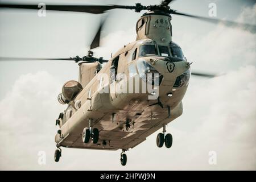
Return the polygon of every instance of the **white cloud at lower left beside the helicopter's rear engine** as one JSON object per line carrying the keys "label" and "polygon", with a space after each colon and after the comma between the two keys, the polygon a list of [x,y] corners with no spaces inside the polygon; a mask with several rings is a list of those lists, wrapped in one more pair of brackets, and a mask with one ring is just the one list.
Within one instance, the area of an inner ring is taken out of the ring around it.
{"label": "white cloud at lower left beside the helicopter's rear engine", "polygon": [[30,167],[37,163],[37,152],[44,150],[44,144],[54,146],[52,126],[61,111],[56,104],[59,88],[47,72],[28,73],[16,80],[0,102],[1,169]]}

